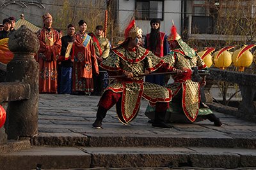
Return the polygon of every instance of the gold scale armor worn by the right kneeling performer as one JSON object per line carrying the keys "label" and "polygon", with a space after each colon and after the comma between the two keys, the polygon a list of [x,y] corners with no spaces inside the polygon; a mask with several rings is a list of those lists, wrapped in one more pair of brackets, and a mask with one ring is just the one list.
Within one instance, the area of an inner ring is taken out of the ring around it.
{"label": "gold scale armor worn by the right kneeling performer", "polygon": [[[170,39],[172,40],[173,38],[171,37]],[[172,50],[168,55],[164,55],[164,57],[161,58],[164,60],[164,62],[170,64],[170,66],[174,67],[175,69],[187,69],[190,71],[192,71],[192,67],[196,66],[198,69],[204,69],[207,67],[204,60],[202,60],[201,57],[196,54],[193,48],[190,48],[184,41],[182,41],[179,34],[177,34],[175,40],[177,43],[179,43],[179,48]],[[174,61],[173,58],[175,58]],[[172,90],[172,99],[175,102],[171,101],[170,108],[166,112],[167,121],[188,122],[189,120],[189,122],[194,122],[198,114],[208,115],[212,113],[208,106],[206,106],[204,103],[200,103],[201,96],[199,83],[189,79],[184,80],[184,77],[179,77],[179,75],[173,75],[172,78],[175,80],[175,82],[166,85],[166,88]],[[179,93],[180,90],[182,90],[181,93]],[[178,98],[175,98],[176,96]],[[180,105],[182,106],[181,110],[179,108]],[[188,120],[184,120],[182,116],[180,116],[183,114],[182,111]],[[154,107],[148,106],[145,115],[151,119],[154,119]],[[168,115],[170,118],[168,118]]]}

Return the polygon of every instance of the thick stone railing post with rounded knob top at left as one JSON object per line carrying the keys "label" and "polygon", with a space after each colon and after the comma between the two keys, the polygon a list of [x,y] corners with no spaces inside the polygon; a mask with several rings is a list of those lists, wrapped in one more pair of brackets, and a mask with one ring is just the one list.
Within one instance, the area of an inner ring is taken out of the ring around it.
{"label": "thick stone railing post with rounded knob top at left", "polygon": [[8,139],[30,138],[38,134],[39,64],[33,55],[39,47],[36,34],[26,25],[13,32],[8,40],[8,48],[14,53],[14,57],[7,64],[6,80],[30,85],[29,99],[11,101],[8,104]]}

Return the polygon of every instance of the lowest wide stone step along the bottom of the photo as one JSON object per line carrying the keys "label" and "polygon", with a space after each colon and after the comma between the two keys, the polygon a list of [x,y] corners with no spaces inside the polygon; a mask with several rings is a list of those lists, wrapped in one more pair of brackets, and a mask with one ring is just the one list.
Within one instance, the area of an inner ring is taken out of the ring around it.
{"label": "lowest wide stone step along the bottom of the photo", "polygon": [[[81,169],[93,167],[256,167],[256,150],[210,147],[32,146],[0,154],[0,169]],[[13,164],[15,162],[15,164]]]}

